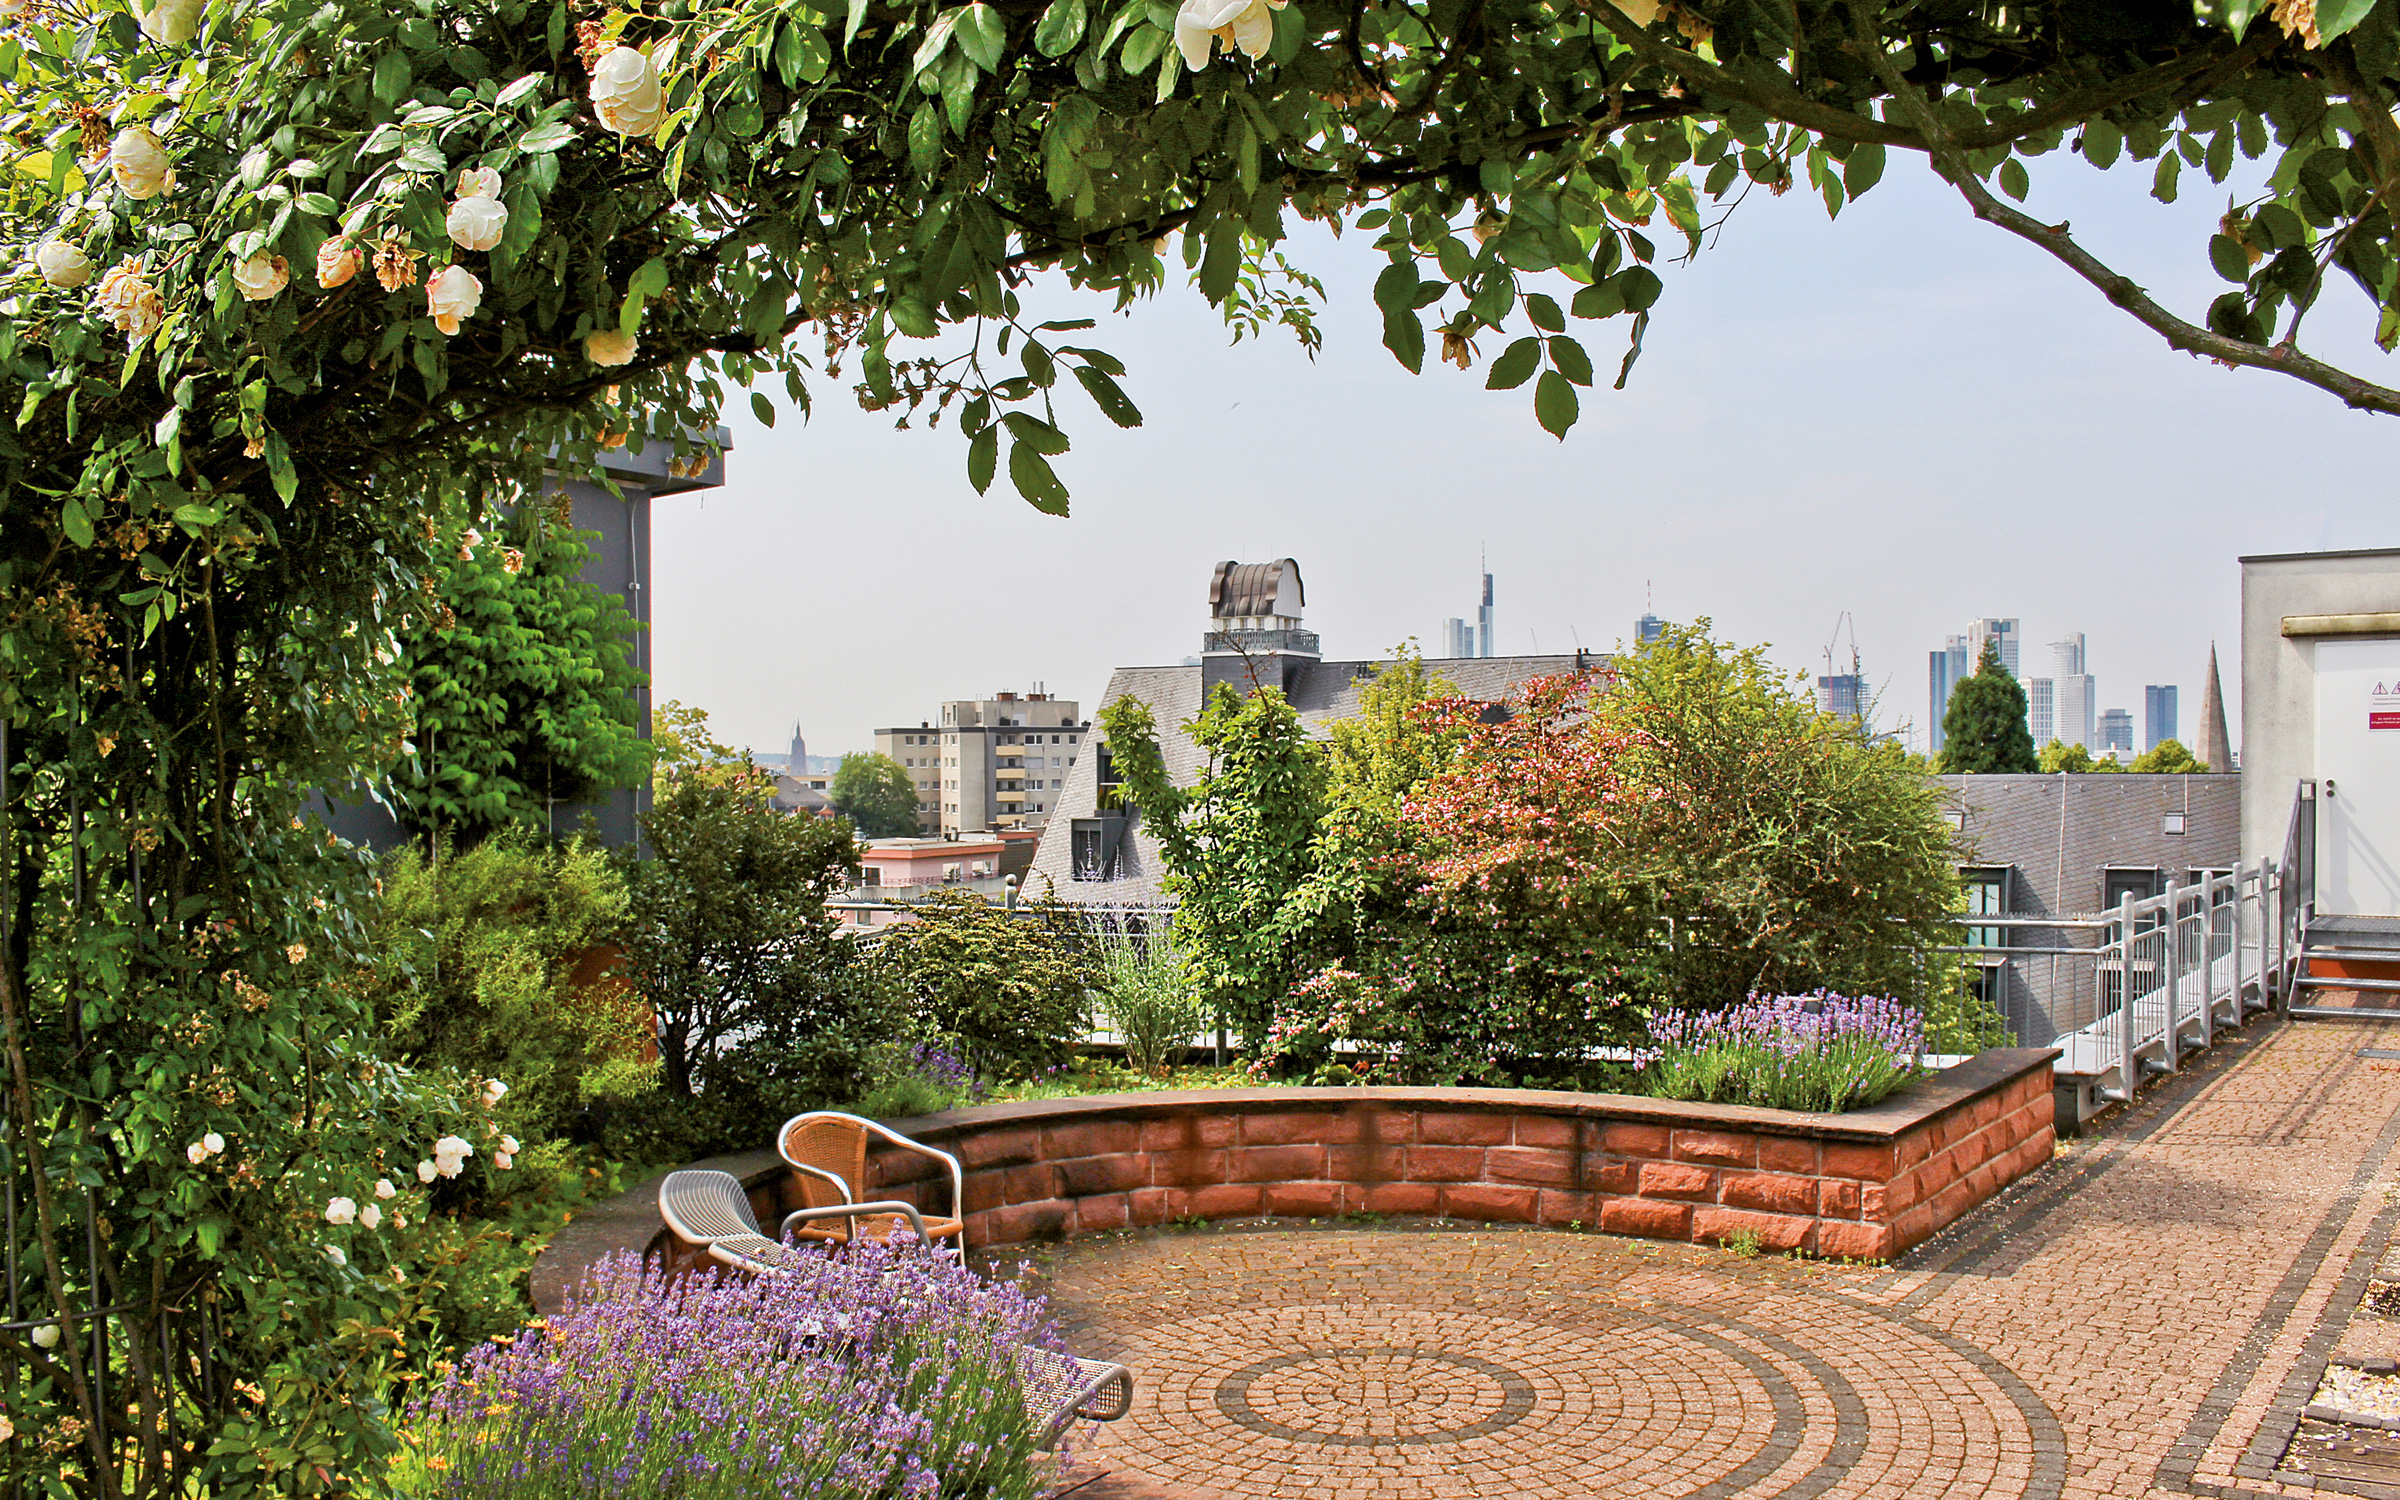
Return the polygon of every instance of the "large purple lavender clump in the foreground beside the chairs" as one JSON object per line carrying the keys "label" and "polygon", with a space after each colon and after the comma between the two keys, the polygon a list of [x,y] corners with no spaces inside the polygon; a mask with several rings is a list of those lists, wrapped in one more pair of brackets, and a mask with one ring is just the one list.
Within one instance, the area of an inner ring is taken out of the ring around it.
{"label": "large purple lavender clump in the foreground beside the chairs", "polygon": [[413,1414],[427,1500],[1030,1500],[1054,1459],[1018,1356],[1039,1298],[914,1246],[816,1253],[790,1279],[662,1282],[634,1255],[576,1306],[482,1344]]}

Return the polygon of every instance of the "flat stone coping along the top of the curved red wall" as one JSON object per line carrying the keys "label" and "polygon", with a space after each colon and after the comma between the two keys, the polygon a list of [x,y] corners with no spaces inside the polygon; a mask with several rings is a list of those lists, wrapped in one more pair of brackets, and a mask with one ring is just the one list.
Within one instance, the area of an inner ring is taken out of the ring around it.
{"label": "flat stone coping along the top of the curved red wall", "polygon": [[[1577,1094],[1567,1090],[1438,1090],[1438,1087],[1262,1087],[1262,1090],[1154,1090],[1140,1094],[1078,1094],[1070,1099],[1018,1099],[970,1104],[907,1121],[886,1121],[900,1135],[941,1145],[967,1133],[1013,1123],[1070,1123],[1090,1116],[1142,1118],[1186,1114],[1286,1114],[1296,1109],[1361,1109],[1373,1104],[1452,1109],[1462,1114],[1558,1114],[1570,1118],[1634,1121],[1682,1128],[1728,1128],[1759,1135],[1810,1135],[1817,1140],[1889,1142],[1978,1094],[2002,1090],[2059,1056],[2054,1046],[1994,1046],[1932,1078],[1922,1078],[1882,1104],[1848,1111],[1759,1109],[1754,1104],[1699,1104],[1649,1094]],[[773,1154],[773,1152],[768,1152]]]}

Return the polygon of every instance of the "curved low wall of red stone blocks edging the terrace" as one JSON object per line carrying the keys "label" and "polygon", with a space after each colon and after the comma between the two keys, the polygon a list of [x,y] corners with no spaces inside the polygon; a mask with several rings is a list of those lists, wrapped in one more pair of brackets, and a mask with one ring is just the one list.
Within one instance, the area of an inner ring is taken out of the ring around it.
{"label": "curved low wall of red stone blocks edging the terrace", "polygon": [[[1850,1114],[1538,1090],[1202,1090],[984,1104],[893,1126],[967,1169],[972,1246],[1183,1217],[1442,1214],[1884,1260],[2052,1154],[2050,1049],[1994,1049]],[[797,1202],[773,1152],[761,1224]],[[869,1198],[948,1210],[948,1174],[883,1147]],[[533,1274],[550,1310],[612,1248],[679,1262],[643,1183],[569,1224]]]}

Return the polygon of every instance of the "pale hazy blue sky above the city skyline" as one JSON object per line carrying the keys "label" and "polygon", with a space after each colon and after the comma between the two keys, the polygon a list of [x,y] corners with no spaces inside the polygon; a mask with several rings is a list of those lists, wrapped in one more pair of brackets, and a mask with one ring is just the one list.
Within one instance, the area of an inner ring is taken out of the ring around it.
{"label": "pale hazy blue sky above the city skyline", "polygon": [[[2045,166],[2035,214],[2198,317],[2222,286],[2222,187],[2189,170],[2170,209],[2148,166]],[[974,494],[948,425],[893,432],[847,386],[775,430],[737,403],[727,485],[655,509],[660,701],[761,751],[799,720],[814,754],[998,689],[1090,715],[1111,667],[1198,650],[1219,559],[1296,557],[1325,653],[1375,658],[1409,636],[1440,650],[1440,622],[1474,617],[1483,550],[1505,653],[1618,646],[1649,600],[1817,672],[1850,612],[1898,727],[1925,718],[1944,634],[2014,614],[2026,674],[2086,631],[2100,708],[2134,710],[2136,734],[2143,684],[2174,682],[2196,737],[2215,643],[2239,737],[2234,559],[2400,542],[2400,422],[2172,353],[1898,154],[1834,223],[1800,187],[1754,192],[1694,264],[1661,266],[1622,394],[1627,319],[1577,324],[1603,377],[1565,444],[1529,386],[1483,389],[1505,338],[1466,374],[1382,350],[1363,238],[1296,254],[1332,293],[1315,362],[1289,336],[1229,346],[1181,286],[1126,319],[1049,293],[1058,317],[1102,314],[1080,338],[1130,365],[1147,415],[1118,432],[1063,382],[1066,521],[1015,499],[1006,466]],[[2328,290],[2304,343],[2393,382],[2362,307]]]}

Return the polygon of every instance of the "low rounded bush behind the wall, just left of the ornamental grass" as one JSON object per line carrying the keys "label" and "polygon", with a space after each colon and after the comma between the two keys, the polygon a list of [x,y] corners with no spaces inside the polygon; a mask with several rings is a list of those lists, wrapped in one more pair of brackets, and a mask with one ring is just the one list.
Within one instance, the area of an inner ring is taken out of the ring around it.
{"label": "low rounded bush behind the wall, just left of the ornamental grass", "polygon": [[1092,958],[1061,902],[1022,917],[972,890],[936,890],[912,922],[886,929],[876,965],[926,1025],[965,1044],[979,1075],[1056,1066],[1092,1025]]}

